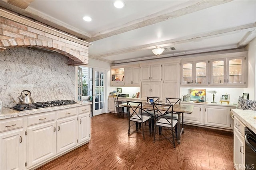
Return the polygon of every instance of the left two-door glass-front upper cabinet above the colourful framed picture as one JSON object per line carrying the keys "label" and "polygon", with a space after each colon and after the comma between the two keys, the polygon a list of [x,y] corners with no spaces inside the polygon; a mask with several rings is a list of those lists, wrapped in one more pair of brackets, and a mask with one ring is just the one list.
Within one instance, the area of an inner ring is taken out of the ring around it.
{"label": "left two-door glass-front upper cabinet above the colourful framed picture", "polygon": [[182,85],[207,85],[208,61],[182,63]]}

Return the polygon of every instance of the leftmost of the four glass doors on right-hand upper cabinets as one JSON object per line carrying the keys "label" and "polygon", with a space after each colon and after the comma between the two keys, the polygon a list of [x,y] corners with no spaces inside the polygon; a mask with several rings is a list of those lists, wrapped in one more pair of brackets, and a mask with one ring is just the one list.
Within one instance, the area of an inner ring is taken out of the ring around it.
{"label": "leftmost of the four glass doors on right-hand upper cabinets", "polygon": [[192,84],[194,81],[192,79],[192,68],[193,64],[192,63],[183,63],[182,64],[182,84]]}

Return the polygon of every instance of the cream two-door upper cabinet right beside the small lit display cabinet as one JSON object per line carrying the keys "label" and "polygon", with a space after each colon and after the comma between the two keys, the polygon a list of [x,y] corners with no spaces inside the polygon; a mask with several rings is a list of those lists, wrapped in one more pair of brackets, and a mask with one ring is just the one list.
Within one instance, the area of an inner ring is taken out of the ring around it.
{"label": "cream two-door upper cabinet right beside the small lit display cabinet", "polygon": [[140,67],[124,68],[124,86],[140,87]]}

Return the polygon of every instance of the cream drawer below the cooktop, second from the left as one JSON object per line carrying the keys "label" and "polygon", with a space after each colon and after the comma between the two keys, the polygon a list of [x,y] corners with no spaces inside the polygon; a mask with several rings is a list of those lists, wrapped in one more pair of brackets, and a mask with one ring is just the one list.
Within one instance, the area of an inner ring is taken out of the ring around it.
{"label": "cream drawer below the cooktop, second from the left", "polygon": [[47,121],[52,121],[55,119],[56,112],[43,113],[40,115],[30,116],[28,117],[28,126],[35,125],[38,123],[44,123]]}

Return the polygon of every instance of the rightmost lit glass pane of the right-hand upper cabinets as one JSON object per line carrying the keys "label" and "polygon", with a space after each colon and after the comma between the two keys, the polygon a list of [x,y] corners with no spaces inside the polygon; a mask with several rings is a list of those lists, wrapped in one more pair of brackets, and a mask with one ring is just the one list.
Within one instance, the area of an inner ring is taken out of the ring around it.
{"label": "rightmost lit glass pane of the right-hand upper cabinets", "polygon": [[242,60],[232,59],[228,65],[228,83],[242,83]]}

